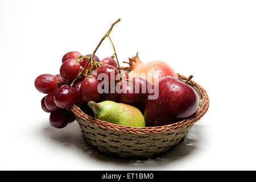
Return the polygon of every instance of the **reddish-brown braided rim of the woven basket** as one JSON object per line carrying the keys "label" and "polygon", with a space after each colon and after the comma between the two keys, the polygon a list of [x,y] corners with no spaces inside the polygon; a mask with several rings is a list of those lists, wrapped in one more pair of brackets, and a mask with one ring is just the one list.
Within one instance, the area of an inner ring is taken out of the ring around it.
{"label": "reddish-brown braided rim of the woven basket", "polygon": [[[129,69],[129,67],[122,67],[122,69]],[[180,75],[179,73],[177,73],[177,75],[179,76],[180,80],[183,80],[183,81],[187,80],[188,78],[183,75]],[[146,127],[131,127],[131,126],[116,125],[110,122],[101,121],[100,119],[90,117],[89,115],[85,114],[75,104],[69,107],[69,109],[76,115],[76,117],[81,118],[82,122],[90,122],[94,126],[101,127],[104,130],[112,130],[113,132],[125,132],[130,134],[166,133],[166,132],[179,130],[179,129],[182,129],[183,127],[188,127],[190,125],[193,125],[195,122],[199,121],[199,119],[203,117],[203,115],[207,112],[209,108],[209,97],[205,89],[193,80],[189,80],[188,84],[191,85],[192,88],[196,90],[197,93],[200,93],[200,97],[201,97],[200,103],[202,105],[197,110],[197,113],[193,115],[191,118],[184,119],[183,121],[179,121],[169,125],[146,126]]]}

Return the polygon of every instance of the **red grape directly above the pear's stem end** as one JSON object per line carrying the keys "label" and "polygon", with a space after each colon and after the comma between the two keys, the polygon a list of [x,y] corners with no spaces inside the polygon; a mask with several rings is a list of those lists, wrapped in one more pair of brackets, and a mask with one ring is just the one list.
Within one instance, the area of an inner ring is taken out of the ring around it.
{"label": "red grape directly above the pear's stem end", "polygon": [[80,86],[80,96],[84,102],[100,100],[101,95],[98,93],[98,80],[96,77],[86,77]]}

